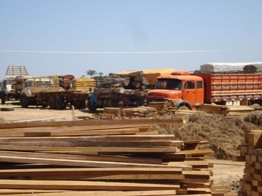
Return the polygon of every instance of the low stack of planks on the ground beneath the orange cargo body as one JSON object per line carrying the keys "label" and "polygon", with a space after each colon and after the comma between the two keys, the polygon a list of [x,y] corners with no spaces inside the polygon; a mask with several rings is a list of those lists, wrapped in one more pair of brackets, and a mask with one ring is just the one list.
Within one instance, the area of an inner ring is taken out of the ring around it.
{"label": "low stack of planks on the ground beneath the orange cargo body", "polygon": [[209,114],[220,114],[226,115],[227,117],[234,117],[237,115],[243,115],[251,113],[254,108],[248,106],[227,106],[227,105],[215,105],[215,104],[204,104],[200,106],[200,110],[205,111]]}

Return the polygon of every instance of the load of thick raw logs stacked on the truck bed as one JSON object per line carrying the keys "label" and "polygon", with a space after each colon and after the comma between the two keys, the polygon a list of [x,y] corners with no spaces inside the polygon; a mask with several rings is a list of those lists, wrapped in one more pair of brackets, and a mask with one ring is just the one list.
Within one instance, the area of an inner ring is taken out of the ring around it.
{"label": "load of thick raw logs stacked on the truck bed", "polygon": [[142,77],[143,71],[134,71],[129,74],[113,74],[103,79],[102,85],[95,88],[96,95],[120,93],[125,95],[145,96],[144,88],[148,80]]}

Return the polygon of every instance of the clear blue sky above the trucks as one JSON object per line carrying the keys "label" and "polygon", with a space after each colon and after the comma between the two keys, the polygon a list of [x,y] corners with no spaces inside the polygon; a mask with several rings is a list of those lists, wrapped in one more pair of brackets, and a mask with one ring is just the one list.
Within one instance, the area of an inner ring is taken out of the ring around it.
{"label": "clear blue sky above the trucks", "polygon": [[12,64],[77,78],[262,62],[261,10],[261,0],[0,0],[0,80]]}

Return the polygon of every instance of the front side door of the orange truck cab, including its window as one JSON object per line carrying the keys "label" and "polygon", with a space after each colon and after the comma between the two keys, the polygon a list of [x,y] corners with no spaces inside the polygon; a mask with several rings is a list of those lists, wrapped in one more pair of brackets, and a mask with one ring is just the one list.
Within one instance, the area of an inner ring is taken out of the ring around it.
{"label": "front side door of the orange truck cab, including its window", "polygon": [[195,81],[186,81],[182,91],[183,100],[187,100],[190,105],[195,105]]}

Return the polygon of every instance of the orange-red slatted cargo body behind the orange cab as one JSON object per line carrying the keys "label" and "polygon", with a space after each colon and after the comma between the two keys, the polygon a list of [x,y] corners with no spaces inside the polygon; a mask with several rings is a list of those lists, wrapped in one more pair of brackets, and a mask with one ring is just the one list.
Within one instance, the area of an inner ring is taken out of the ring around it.
{"label": "orange-red slatted cargo body behind the orange cab", "polygon": [[[204,81],[204,102],[262,99],[262,74],[193,74]],[[255,102],[256,103],[256,102]]]}

